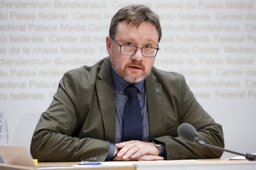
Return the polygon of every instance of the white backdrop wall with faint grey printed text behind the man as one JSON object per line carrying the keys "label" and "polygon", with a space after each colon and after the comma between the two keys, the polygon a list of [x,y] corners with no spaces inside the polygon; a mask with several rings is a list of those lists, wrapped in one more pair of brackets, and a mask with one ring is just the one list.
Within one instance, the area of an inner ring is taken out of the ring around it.
{"label": "white backdrop wall with faint grey printed text behind the man", "polygon": [[[8,145],[29,149],[63,73],[106,57],[113,14],[136,3],[0,0],[0,117],[7,117]],[[256,1],[139,3],[161,18],[154,66],[185,76],[199,103],[223,125],[227,149],[255,153]]]}

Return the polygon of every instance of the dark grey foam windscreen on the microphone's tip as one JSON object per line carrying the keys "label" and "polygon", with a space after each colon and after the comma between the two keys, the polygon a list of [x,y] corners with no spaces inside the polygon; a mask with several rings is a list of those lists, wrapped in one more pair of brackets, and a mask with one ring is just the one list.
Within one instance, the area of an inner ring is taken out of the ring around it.
{"label": "dark grey foam windscreen on the microphone's tip", "polygon": [[196,142],[198,139],[197,130],[188,123],[183,123],[178,127],[178,134],[179,136],[187,142]]}

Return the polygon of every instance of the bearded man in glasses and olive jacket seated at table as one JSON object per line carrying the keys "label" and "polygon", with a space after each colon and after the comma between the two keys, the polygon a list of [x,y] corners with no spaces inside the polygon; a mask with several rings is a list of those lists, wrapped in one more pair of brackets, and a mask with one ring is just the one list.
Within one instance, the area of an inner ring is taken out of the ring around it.
{"label": "bearded man in glasses and olive jacket seated at table", "polygon": [[[177,134],[186,122],[202,141],[224,147],[221,125],[197,103],[184,77],[153,67],[160,39],[159,18],[148,7],[117,11],[106,36],[110,57],[64,74],[34,131],[33,157],[40,162],[219,158],[223,152]],[[132,100],[135,104],[126,106]],[[139,108],[131,111],[133,106]]]}

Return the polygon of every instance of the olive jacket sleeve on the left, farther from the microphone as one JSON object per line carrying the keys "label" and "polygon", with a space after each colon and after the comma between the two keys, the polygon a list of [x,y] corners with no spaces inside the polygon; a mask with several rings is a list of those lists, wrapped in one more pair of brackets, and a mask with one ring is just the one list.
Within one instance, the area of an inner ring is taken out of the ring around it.
{"label": "olive jacket sleeve on the left, farther from the microphone", "polygon": [[[84,124],[88,123],[86,120],[90,113],[89,103],[95,96],[95,90],[90,89],[88,85],[86,91],[88,94],[83,94],[88,99],[81,101],[84,96],[81,96],[81,87],[77,82],[77,79],[81,78],[76,75],[71,71],[64,74],[52,103],[40,116],[30,146],[33,158],[38,159],[39,162],[74,162],[89,158],[93,161],[104,161],[106,159],[110,142],[103,140],[103,125],[95,127],[96,130],[88,125],[87,127],[92,129],[84,129],[84,131],[91,131],[91,135],[80,135],[86,134],[80,132]],[[93,85],[91,86],[93,88]],[[86,107],[82,107],[81,104]],[[100,111],[95,113],[91,118],[102,121]],[[102,132],[97,133],[97,128],[101,128]]]}

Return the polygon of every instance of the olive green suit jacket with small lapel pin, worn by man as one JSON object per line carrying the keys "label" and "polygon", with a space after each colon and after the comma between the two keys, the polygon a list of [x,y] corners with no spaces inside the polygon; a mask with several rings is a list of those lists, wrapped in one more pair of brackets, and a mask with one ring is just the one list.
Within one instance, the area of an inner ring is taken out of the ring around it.
{"label": "olive green suit jacket with small lapel pin, worn by man", "polygon": [[[40,162],[104,161],[115,143],[115,95],[110,57],[68,71],[34,131],[30,151]],[[203,110],[181,74],[157,70],[145,80],[149,140],[164,142],[166,159],[219,158],[223,152],[184,142],[187,122],[205,143],[224,146],[222,126]]]}

